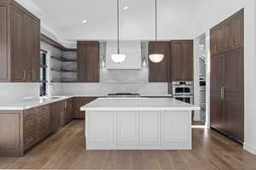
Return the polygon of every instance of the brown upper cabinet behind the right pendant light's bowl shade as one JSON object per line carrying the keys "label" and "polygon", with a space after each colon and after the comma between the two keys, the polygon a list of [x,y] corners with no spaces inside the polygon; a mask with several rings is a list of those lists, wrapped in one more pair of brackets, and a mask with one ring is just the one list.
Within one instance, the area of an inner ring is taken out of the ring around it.
{"label": "brown upper cabinet behind the right pendant light's bowl shade", "polygon": [[165,57],[160,63],[153,63],[149,59],[148,81],[171,82],[171,42],[149,42],[149,54],[164,54]]}

